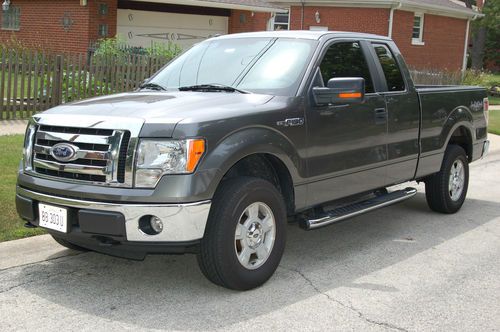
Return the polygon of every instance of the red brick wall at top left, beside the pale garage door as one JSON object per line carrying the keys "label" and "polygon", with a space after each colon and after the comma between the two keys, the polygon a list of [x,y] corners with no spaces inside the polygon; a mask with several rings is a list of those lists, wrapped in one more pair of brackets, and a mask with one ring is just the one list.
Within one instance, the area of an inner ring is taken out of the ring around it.
{"label": "red brick wall at top left, beside the pale garage door", "polygon": [[[109,5],[107,18],[99,17],[101,2]],[[11,3],[21,10],[20,30],[0,30],[0,41],[15,38],[31,47],[86,52],[90,41],[97,39],[99,23],[107,22],[110,36],[116,34],[117,0],[89,0],[86,7],[80,6],[79,0],[15,0]],[[62,25],[66,13],[73,20],[68,31]]]}

